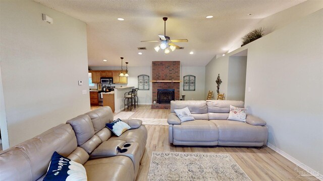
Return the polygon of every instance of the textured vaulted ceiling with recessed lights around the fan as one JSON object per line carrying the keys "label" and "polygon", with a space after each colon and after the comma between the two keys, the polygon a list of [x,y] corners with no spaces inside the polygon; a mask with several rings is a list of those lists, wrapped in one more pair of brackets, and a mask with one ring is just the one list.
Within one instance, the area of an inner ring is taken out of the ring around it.
{"label": "textured vaulted ceiling with recessed lights around the fan", "polygon": [[[125,57],[129,66],[151,65],[151,61],[179,60],[184,66],[204,66],[216,54],[227,52],[240,38],[265,17],[293,7],[299,1],[98,1],[34,0],[46,7],[87,24],[89,66],[120,66]],[[253,14],[248,16],[248,14]],[[213,18],[205,17],[212,15]],[[169,54],[155,52],[164,34],[185,47]],[[117,18],[124,18],[118,21]],[[55,20],[54,20],[55,23]],[[146,47],[147,50],[138,50]],[[189,54],[193,51],[194,54]],[[138,55],[142,52],[142,55]],[[102,60],[106,59],[106,62]]]}

